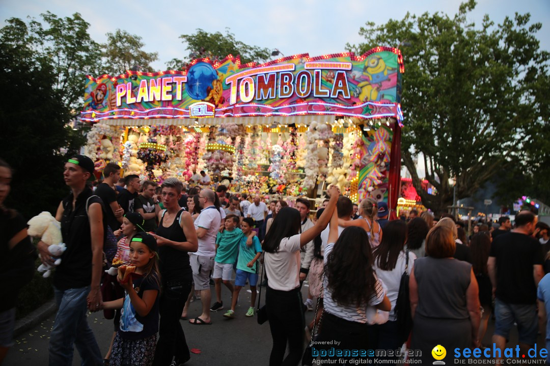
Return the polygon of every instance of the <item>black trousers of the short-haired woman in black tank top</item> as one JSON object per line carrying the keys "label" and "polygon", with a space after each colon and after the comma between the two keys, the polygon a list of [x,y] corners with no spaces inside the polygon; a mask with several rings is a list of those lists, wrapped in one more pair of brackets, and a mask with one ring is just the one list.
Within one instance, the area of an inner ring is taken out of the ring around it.
{"label": "black trousers of the short-haired woman in black tank top", "polygon": [[190,357],[182,324],[179,322],[189,292],[191,275],[182,280],[168,280],[162,286],[159,337],[153,359],[155,366],[168,366],[172,362],[172,357],[179,362],[185,362]]}

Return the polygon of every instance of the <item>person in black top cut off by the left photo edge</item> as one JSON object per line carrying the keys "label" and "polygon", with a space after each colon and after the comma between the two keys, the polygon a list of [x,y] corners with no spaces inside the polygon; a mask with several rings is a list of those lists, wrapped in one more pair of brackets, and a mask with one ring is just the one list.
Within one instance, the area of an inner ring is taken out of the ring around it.
{"label": "person in black top cut off by the left photo edge", "polygon": [[27,235],[27,221],[17,211],[4,206],[12,183],[12,168],[0,159],[0,274],[4,295],[0,305],[0,364],[13,345],[15,302],[19,289],[34,274],[36,250]]}

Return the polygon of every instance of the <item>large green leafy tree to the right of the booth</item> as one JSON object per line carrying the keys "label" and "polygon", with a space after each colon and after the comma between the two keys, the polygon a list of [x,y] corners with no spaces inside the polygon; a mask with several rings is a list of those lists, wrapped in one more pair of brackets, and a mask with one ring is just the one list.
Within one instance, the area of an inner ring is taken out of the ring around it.
{"label": "large green leafy tree to the right of the booth", "polygon": [[[449,178],[456,179],[458,199],[472,196],[499,172],[530,161],[529,140],[548,129],[549,54],[535,36],[541,24],[515,14],[496,25],[486,15],[476,27],[467,21],[475,5],[461,4],[452,18],[425,13],[380,26],[367,22],[359,32],[365,42],[347,45],[362,53],[410,43],[402,50],[401,151],[422,203],[432,210],[452,204]],[[436,195],[421,189],[413,159],[419,153]]]}

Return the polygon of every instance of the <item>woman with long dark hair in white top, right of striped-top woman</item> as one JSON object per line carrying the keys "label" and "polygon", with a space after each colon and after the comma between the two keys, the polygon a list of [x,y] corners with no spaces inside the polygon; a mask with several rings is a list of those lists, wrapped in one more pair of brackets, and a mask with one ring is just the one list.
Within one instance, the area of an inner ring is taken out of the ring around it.
{"label": "woman with long dark hair in white top, right of striped-top woman", "polygon": [[[371,350],[397,350],[401,347],[398,339],[397,317],[395,303],[399,294],[401,276],[408,266],[410,273],[416,260],[416,255],[405,250],[407,224],[401,220],[388,222],[384,228],[384,237],[374,251],[375,271],[379,279],[386,285],[387,296],[392,304],[388,321],[384,324],[373,324],[369,327],[368,348]],[[409,256],[408,261],[406,256]]]}

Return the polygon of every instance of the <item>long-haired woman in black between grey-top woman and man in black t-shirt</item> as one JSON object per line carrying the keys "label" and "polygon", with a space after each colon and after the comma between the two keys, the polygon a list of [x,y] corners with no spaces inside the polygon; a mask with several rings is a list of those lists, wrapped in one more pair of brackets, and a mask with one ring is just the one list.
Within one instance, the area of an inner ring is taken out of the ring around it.
{"label": "long-haired woman in black between grey-top woman and man in black t-shirt", "polygon": [[477,339],[482,341],[487,331],[487,323],[491,318],[491,300],[492,300],[492,285],[489,272],[487,271],[487,260],[491,251],[491,237],[485,233],[474,234],[470,240],[470,255],[472,258],[472,269],[476,275],[477,285],[479,286],[479,299],[483,307],[481,315],[480,330],[477,334]]}

